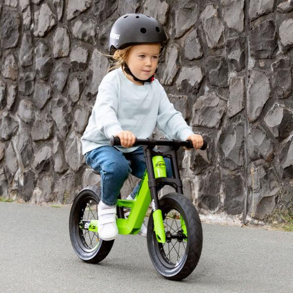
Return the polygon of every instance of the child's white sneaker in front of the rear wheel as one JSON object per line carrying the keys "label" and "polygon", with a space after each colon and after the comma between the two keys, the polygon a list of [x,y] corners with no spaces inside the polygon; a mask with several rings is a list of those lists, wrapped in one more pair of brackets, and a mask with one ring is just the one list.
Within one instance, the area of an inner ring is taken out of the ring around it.
{"label": "child's white sneaker in front of the rear wheel", "polygon": [[118,236],[116,205],[108,206],[100,201],[98,205],[98,234],[102,240],[110,241]]}

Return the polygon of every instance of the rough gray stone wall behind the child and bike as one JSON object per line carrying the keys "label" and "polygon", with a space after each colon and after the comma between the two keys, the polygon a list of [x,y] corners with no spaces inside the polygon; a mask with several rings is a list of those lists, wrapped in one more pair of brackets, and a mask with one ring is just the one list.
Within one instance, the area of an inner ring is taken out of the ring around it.
{"label": "rough gray stone wall behind the child and bike", "polygon": [[[2,0],[0,196],[70,203],[99,182],[80,138],[110,66],[99,51],[129,12],[165,26],[157,78],[209,142],[178,154],[185,195],[201,215],[257,223],[286,208],[293,0]],[[122,192],[137,181],[130,176]]]}

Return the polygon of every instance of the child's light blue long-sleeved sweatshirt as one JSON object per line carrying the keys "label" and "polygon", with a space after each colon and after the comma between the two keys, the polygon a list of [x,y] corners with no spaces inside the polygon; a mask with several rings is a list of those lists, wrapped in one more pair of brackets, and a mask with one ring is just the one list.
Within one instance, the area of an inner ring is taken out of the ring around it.
{"label": "child's light blue long-sleeved sweatshirt", "polygon": [[[83,154],[96,147],[109,146],[109,138],[123,130],[131,131],[137,138],[150,138],[155,126],[167,139],[186,140],[193,134],[157,79],[136,85],[126,78],[121,67],[112,70],[99,85],[95,105],[81,138]],[[131,152],[139,146],[115,147]]]}

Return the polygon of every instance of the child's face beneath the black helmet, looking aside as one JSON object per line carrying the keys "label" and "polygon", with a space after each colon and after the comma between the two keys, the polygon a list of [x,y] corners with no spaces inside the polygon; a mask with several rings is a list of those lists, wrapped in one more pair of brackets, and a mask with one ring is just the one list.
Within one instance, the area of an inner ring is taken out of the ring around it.
{"label": "child's face beneath the black helmet, looking aside", "polygon": [[[141,80],[150,78],[157,68],[160,49],[160,43],[132,46],[126,63],[133,75]],[[134,81],[132,76],[131,80]]]}

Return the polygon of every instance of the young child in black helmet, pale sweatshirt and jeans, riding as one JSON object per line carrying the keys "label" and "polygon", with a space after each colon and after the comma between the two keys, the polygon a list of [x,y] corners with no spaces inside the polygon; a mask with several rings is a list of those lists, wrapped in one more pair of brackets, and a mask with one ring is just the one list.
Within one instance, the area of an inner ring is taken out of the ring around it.
{"label": "young child in black helmet, pale sweatshirt and jeans, riding", "polygon": [[[111,55],[107,56],[116,60],[116,69],[107,73],[99,85],[81,138],[86,164],[101,173],[98,230],[103,240],[118,235],[117,198],[129,173],[142,178],[146,169],[143,146],[133,146],[136,137],[151,137],[157,125],[168,139],[190,139],[194,148],[203,146],[202,136],[192,132],[169,102],[164,87],[154,79],[166,42],[160,22],[141,13],[120,17],[111,29]],[[120,138],[122,146],[109,145],[112,135]],[[167,177],[172,178],[170,160],[164,160]],[[138,188],[139,184],[127,199],[134,198]],[[142,229],[146,232],[144,225]]]}

